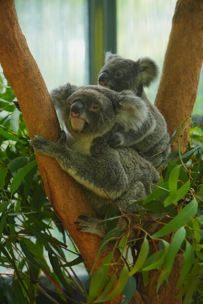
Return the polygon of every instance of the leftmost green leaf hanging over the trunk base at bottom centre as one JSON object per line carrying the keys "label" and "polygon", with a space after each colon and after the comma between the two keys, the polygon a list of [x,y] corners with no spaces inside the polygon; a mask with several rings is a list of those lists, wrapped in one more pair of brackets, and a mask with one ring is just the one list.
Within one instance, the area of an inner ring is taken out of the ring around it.
{"label": "leftmost green leaf hanging over the trunk base at bottom centre", "polygon": [[105,279],[104,270],[102,268],[94,272],[90,283],[88,302],[92,302],[102,291],[105,284]]}

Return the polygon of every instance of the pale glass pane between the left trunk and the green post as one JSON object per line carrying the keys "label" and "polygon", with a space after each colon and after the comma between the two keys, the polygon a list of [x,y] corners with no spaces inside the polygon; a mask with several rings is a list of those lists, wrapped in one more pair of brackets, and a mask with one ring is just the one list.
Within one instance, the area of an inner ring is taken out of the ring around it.
{"label": "pale glass pane between the left trunk and the green post", "polygon": [[86,84],[85,2],[16,0],[22,33],[49,90],[66,82]]}

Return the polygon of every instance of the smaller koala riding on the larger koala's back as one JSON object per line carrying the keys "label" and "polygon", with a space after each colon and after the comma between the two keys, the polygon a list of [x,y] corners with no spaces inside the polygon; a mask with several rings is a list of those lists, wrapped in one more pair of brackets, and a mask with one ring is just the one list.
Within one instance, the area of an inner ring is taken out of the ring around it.
{"label": "smaller koala riding on the larger koala's back", "polygon": [[98,76],[98,84],[101,86],[116,92],[130,90],[141,97],[147,108],[145,119],[135,118],[143,121],[138,128],[117,126],[117,130],[114,129],[110,137],[111,146],[134,147],[155,168],[164,163],[170,153],[170,138],[165,118],[148,100],[144,91],[144,87],[148,87],[157,76],[158,67],[151,59],[141,58],[133,61],[111,52],[106,53],[105,65]]}

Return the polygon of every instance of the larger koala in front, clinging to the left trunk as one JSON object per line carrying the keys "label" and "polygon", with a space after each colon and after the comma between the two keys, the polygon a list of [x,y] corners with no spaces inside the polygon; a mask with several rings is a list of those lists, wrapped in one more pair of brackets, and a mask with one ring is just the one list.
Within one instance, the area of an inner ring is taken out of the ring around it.
{"label": "larger koala in front, clinging to the left trunk", "polygon": [[142,111],[143,102],[130,91],[114,92],[96,85],[77,88],[68,84],[60,92],[59,99],[55,100],[56,91],[52,98],[59,103],[62,119],[72,135],[71,146],[67,145],[64,131],[57,142],[34,135],[30,144],[37,152],[54,157],[81,184],[98,218],[81,215],[75,223],[79,230],[103,237],[109,197],[123,210],[138,213],[143,207],[136,202],[145,199],[150,186],[153,189],[159,179],[154,167],[135,149],[109,145],[114,125],[125,125],[126,117],[131,124],[129,109],[131,113]]}

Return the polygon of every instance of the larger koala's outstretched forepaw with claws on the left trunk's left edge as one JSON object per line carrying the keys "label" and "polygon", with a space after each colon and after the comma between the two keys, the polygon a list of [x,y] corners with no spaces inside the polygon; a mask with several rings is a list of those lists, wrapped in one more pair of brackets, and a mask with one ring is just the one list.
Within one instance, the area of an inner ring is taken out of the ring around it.
{"label": "larger koala's outstretched forepaw with claws on the left trunk's left edge", "polygon": [[33,135],[33,137],[35,140],[29,140],[29,143],[37,152],[46,155],[53,155],[53,150],[55,148],[55,143],[53,141],[47,140],[38,135]]}

